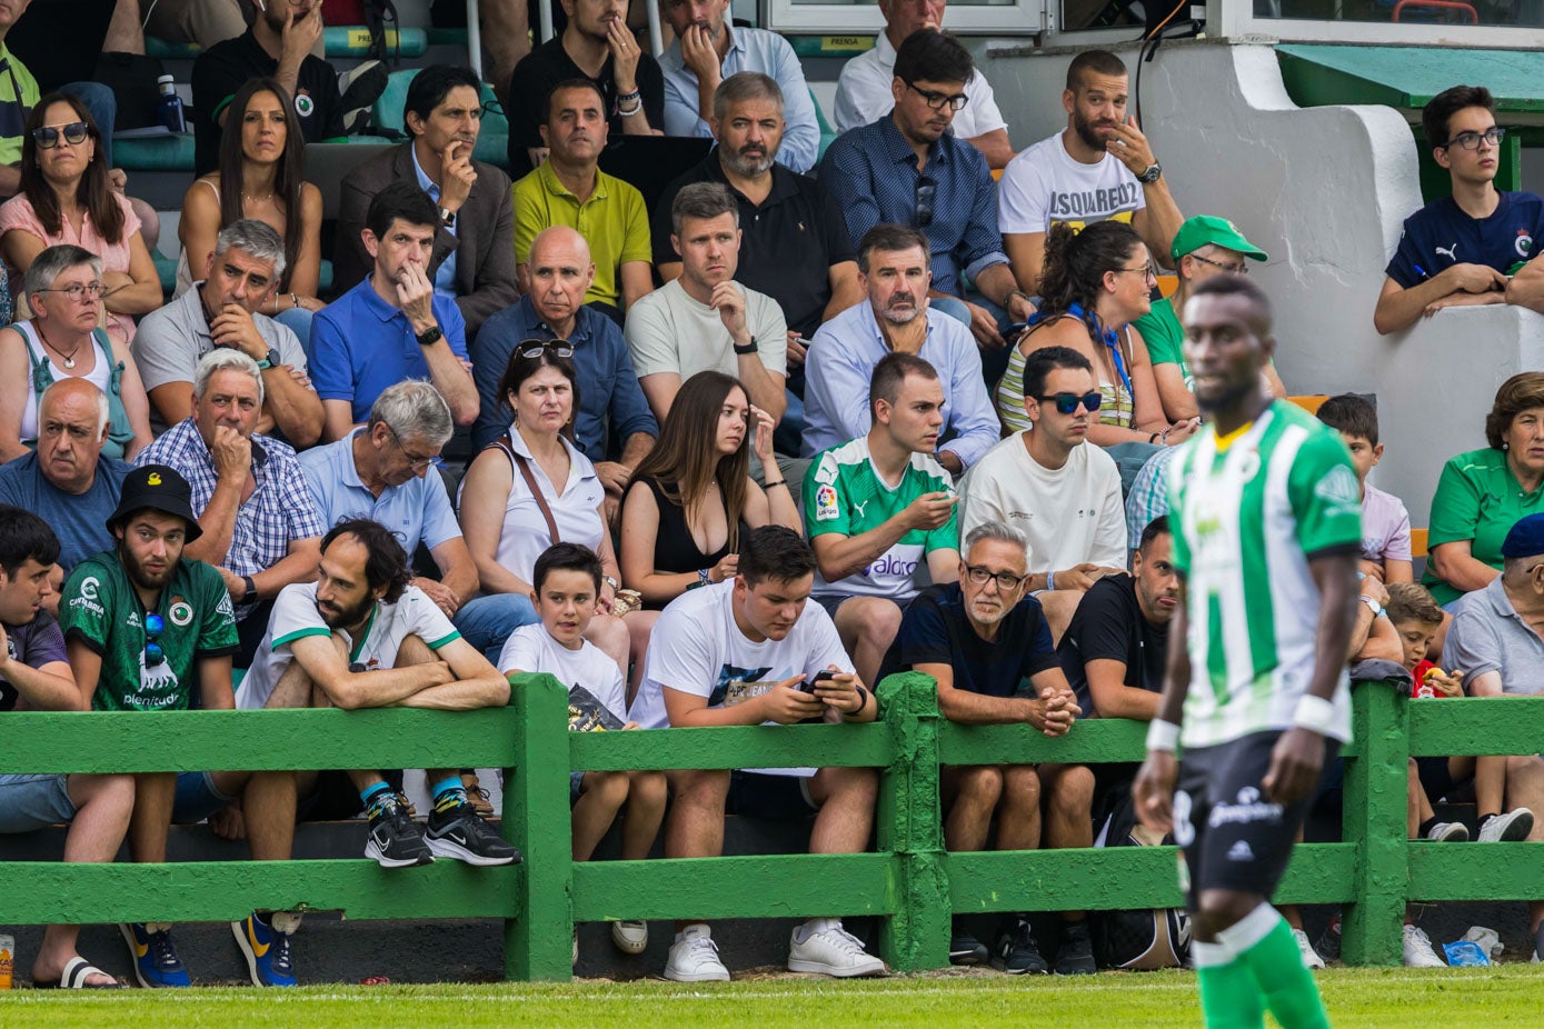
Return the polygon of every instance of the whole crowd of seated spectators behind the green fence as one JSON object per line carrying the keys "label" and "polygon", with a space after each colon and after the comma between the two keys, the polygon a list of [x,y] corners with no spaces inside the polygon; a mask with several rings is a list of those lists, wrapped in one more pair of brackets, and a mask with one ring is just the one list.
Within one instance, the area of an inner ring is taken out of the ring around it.
{"label": "whole crowd of seated spectators behind the green fence", "polygon": [[[0,40],[26,6],[0,6]],[[880,679],[914,670],[954,722],[1061,737],[1153,717],[1178,591],[1167,467],[1210,432],[1187,302],[1268,258],[1224,216],[1181,214],[1116,56],[1078,56],[1065,130],[1014,154],[942,0],[883,0],[821,154],[787,42],[733,25],[727,0],[667,0],[659,62],[625,3],[565,0],[560,34],[500,83],[516,179],[472,157],[477,76],[422,69],[408,139],[340,184],[324,299],[304,143],[343,127],[320,3],[241,6],[159,15],[205,42],[170,301],[111,117],[79,91],[40,96],[9,57],[0,710],[454,711],[551,673],[625,728],[843,724],[875,719]],[[1454,304],[1544,310],[1544,201],[1495,188],[1488,93],[1442,93],[1425,131],[1453,196],[1407,222],[1379,330]],[[715,145],[650,210],[599,162],[608,139],[661,134]],[[1274,367],[1257,386],[1286,393]],[[1342,395],[1319,417],[1363,509],[1346,660],[1402,665],[1419,696],[1544,691],[1544,373],[1507,380],[1488,446],[1445,464],[1424,585],[1410,515],[1366,481],[1376,407]],[[69,861],[127,844],[157,862],[171,824],[207,821],[287,859],[296,818],[363,816],[384,867],[520,859],[471,770],[426,770],[423,821],[398,774],[3,774],[0,832],[71,822]],[[946,768],[945,844],[1090,847],[1132,774]],[[1470,836],[1434,813],[1468,782],[1479,841],[1530,838],[1544,804],[1536,756],[1410,776],[1417,839]],[[726,815],[806,819],[812,853],[855,853],[877,784],[845,767],[573,773],[573,856],[624,811],[630,859],[661,828],[667,856],[720,855]],[[957,921],[950,956],[1093,972],[1085,913],[1059,919],[1050,958],[1028,913],[990,946]],[[298,927],[235,923],[253,983],[296,981]],[[142,986],[191,981],[171,926],[124,935]],[[648,927],[611,936],[641,953]],[[49,929],[34,977],[113,986],[74,944]],[[1405,947],[1433,963],[1413,926]],[[787,966],[885,969],[835,916],[792,930]],[[706,921],[676,927],[665,977],[729,978]]]}

